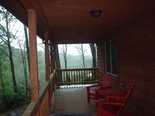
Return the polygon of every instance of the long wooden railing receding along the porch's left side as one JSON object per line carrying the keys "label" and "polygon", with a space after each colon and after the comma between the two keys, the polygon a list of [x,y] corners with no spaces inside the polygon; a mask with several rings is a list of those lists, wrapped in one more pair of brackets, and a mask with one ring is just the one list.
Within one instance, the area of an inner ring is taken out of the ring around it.
{"label": "long wooden railing receding along the porch's left side", "polygon": [[38,101],[31,102],[22,116],[48,116],[55,90],[55,74],[47,81],[45,87],[40,91]]}

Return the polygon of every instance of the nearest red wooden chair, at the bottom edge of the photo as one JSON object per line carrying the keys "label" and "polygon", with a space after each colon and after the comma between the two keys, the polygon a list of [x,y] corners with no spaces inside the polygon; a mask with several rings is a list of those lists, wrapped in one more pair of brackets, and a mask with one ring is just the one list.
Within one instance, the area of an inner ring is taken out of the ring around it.
{"label": "nearest red wooden chair, at the bottom edge of the photo", "polygon": [[105,101],[97,100],[97,112],[98,116],[120,116],[124,114],[127,116],[129,113],[124,110],[127,103],[127,99],[132,93],[133,86],[126,91],[124,96],[108,96]]}

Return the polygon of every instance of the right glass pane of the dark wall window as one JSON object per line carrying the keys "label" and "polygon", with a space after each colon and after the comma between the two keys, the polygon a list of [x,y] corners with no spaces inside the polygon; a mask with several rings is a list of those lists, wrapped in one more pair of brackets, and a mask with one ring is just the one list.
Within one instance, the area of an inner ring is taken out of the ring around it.
{"label": "right glass pane of the dark wall window", "polygon": [[112,64],[112,74],[117,74],[117,64],[116,64],[116,59],[117,59],[117,45],[116,41],[111,41],[111,64]]}

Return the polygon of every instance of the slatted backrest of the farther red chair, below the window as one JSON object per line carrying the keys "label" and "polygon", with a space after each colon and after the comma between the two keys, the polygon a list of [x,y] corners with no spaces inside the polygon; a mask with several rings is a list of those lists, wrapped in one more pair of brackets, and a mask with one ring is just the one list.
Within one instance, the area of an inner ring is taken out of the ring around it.
{"label": "slatted backrest of the farther red chair, below the window", "polygon": [[111,87],[112,85],[112,76],[111,75],[104,75],[102,81],[101,81],[101,85],[103,88],[108,88]]}

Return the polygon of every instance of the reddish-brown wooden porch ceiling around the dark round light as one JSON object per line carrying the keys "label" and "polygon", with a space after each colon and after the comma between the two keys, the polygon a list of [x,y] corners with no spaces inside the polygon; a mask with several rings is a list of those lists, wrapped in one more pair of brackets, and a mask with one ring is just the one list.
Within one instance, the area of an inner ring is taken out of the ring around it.
{"label": "reddish-brown wooden porch ceiling around the dark round light", "polygon": [[[154,0],[1,0],[2,6],[27,24],[27,9],[37,10],[38,34],[49,32],[55,43],[88,43],[147,14]],[[89,12],[102,10],[100,17]]]}

